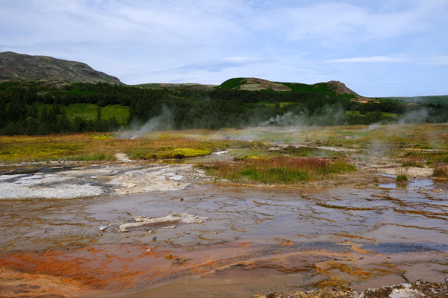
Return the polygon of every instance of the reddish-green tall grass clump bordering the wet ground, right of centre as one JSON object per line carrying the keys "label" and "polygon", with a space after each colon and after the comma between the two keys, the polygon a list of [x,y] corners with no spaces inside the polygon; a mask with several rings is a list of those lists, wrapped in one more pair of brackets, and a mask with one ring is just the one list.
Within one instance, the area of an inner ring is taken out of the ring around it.
{"label": "reddish-green tall grass clump bordering the wet ground, right of centre", "polygon": [[288,157],[215,161],[198,165],[210,175],[233,182],[263,184],[295,184],[315,181],[329,173],[353,172],[356,167],[343,160],[330,161],[318,157]]}

